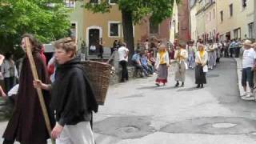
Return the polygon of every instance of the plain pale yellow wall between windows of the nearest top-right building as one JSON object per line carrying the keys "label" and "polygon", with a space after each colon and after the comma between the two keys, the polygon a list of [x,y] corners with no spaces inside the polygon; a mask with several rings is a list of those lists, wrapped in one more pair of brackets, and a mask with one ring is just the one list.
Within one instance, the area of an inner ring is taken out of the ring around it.
{"label": "plain pale yellow wall between windows of the nearest top-right building", "polygon": [[[230,17],[230,4],[233,4],[233,16]],[[223,10],[223,22],[221,22],[220,11]],[[242,8],[242,1],[239,0],[217,0],[217,24],[218,32],[225,38],[230,32],[230,38],[234,38],[234,30],[241,28],[241,38],[248,36],[248,24],[254,22],[254,0],[248,0],[246,9]],[[240,37],[240,34],[239,36]]]}

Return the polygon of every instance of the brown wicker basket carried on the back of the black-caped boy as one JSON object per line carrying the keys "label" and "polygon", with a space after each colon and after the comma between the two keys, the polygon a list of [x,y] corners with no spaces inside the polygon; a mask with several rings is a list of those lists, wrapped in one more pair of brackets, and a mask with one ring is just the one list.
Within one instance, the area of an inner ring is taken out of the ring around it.
{"label": "brown wicker basket carried on the back of the black-caped boy", "polygon": [[107,63],[96,61],[86,61],[82,62],[82,64],[94,88],[98,105],[104,105],[110,83],[111,66]]}

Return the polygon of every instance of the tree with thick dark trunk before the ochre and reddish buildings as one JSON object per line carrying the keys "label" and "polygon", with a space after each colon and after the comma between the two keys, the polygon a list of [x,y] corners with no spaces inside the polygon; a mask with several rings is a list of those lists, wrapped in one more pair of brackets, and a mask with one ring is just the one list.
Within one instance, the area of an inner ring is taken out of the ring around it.
{"label": "tree with thick dark trunk before the ochre and reddish buildings", "polygon": [[[160,23],[170,18],[174,5],[174,0],[116,0],[116,2],[122,13],[124,41],[131,54],[134,54],[133,24],[137,24],[145,17],[150,17],[154,23]],[[110,12],[111,6],[109,0],[104,0],[100,4],[87,1],[85,8],[94,13],[107,13]]]}

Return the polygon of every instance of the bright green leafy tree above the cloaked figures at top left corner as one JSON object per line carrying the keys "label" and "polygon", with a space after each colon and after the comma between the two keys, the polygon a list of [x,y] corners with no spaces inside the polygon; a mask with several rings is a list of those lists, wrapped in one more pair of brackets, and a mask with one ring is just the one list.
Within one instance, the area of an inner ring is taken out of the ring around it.
{"label": "bright green leafy tree above the cloaked figures at top left corner", "polygon": [[14,51],[24,33],[40,42],[51,42],[68,34],[69,10],[63,0],[1,0],[0,50]]}

